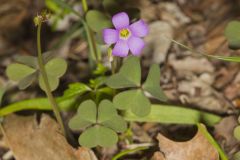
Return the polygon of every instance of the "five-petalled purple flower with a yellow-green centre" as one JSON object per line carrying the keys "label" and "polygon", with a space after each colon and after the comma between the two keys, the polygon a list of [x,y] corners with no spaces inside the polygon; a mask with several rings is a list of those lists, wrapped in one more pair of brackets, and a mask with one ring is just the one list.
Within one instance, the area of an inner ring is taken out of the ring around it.
{"label": "five-petalled purple flower with a yellow-green centre", "polygon": [[143,20],[129,24],[127,13],[120,12],[112,17],[116,29],[104,29],[103,39],[106,44],[115,44],[112,50],[114,56],[126,57],[129,50],[135,56],[144,48],[142,37],[148,34],[148,26]]}

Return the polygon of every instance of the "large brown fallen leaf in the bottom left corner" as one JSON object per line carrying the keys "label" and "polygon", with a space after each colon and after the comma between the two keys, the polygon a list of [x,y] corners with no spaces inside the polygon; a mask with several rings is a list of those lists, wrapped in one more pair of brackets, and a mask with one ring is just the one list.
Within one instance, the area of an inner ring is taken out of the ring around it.
{"label": "large brown fallen leaf in the bottom left corner", "polygon": [[17,160],[97,160],[87,148],[72,148],[48,115],[43,114],[39,124],[36,116],[10,115],[3,128],[4,139]]}

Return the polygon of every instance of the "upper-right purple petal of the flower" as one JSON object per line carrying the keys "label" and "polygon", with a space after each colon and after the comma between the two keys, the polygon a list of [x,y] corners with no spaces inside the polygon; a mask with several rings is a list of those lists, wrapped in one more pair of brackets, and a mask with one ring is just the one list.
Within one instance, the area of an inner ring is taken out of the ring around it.
{"label": "upper-right purple petal of the flower", "polygon": [[148,34],[148,26],[143,20],[131,24],[129,28],[133,35],[138,37],[144,37]]}

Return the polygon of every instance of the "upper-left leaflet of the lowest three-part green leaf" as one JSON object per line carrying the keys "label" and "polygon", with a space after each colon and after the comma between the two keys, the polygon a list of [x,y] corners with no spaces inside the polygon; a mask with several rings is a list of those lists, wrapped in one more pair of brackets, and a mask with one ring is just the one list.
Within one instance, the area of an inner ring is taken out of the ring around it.
{"label": "upper-left leaflet of the lowest three-part green leaf", "polygon": [[92,100],[87,100],[80,104],[77,114],[69,121],[68,125],[73,130],[84,129],[95,124],[96,118],[96,104]]}

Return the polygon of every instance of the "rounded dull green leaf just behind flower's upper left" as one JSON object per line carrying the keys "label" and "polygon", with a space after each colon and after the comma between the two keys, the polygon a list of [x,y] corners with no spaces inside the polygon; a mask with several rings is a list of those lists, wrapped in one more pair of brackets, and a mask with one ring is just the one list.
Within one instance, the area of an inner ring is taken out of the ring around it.
{"label": "rounded dull green leaf just behind flower's upper left", "polygon": [[88,11],[86,14],[86,21],[94,32],[100,32],[102,29],[112,26],[110,19],[97,10]]}

